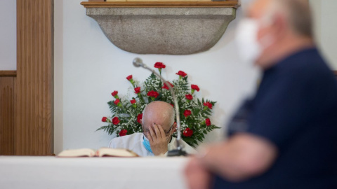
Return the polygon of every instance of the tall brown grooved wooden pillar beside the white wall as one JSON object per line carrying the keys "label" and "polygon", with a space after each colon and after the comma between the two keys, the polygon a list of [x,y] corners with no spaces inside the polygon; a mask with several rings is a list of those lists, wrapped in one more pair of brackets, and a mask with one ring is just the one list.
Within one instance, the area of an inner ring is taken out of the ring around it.
{"label": "tall brown grooved wooden pillar beside the white wall", "polygon": [[53,0],[17,0],[15,154],[53,154]]}

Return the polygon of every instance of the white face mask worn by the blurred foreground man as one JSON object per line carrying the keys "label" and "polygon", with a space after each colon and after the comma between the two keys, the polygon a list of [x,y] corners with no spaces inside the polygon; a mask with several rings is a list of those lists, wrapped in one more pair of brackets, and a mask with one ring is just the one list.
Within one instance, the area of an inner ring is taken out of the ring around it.
{"label": "white face mask worn by the blurred foreground man", "polygon": [[235,35],[238,53],[244,63],[253,64],[263,51],[258,43],[258,20],[244,18],[239,22]]}

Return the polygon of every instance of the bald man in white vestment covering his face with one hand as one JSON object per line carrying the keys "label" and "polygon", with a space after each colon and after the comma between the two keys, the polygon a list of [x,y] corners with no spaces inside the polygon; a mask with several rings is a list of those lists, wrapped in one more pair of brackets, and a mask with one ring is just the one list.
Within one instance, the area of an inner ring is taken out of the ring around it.
{"label": "bald man in white vestment covering his face with one hand", "polygon": [[[140,156],[166,155],[176,149],[177,140],[172,137],[177,124],[174,123],[174,109],[171,104],[161,101],[147,104],[140,120],[143,133],[134,133],[124,137],[114,138],[109,148],[124,148]],[[188,154],[196,153],[194,148],[181,140],[180,144]]]}

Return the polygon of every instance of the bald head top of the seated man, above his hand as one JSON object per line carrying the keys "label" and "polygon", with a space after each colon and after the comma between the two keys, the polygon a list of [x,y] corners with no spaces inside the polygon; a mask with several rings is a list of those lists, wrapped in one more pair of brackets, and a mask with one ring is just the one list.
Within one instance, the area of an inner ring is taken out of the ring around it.
{"label": "bald head top of the seated man, above his hand", "polygon": [[171,104],[161,101],[151,102],[143,111],[143,125],[148,127],[159,124],[165,131],[169,130],[174,123],[174,109]]}

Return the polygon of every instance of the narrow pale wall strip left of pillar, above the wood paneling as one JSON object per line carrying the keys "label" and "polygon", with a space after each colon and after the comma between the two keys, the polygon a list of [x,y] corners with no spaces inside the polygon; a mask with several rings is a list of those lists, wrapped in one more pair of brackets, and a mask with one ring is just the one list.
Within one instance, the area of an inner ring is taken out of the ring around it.
{"label": "narrow pale wall strip left of pillar, above the wood paneling", "polygon": [[0,70],[16,70],[16,0],[1,0]]}

